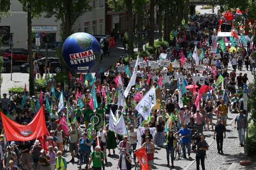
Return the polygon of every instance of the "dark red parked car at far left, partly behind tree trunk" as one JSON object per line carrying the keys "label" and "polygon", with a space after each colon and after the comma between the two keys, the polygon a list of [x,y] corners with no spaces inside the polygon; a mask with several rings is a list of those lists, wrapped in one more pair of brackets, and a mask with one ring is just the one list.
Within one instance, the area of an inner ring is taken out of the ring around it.
{"label": "dark red parked car at far left, partly behind tree trunk", "polygon": [[[34,52],[34,51],[33,51]],[[4,58],[8,58],[9,60],[11,60],[11,49],[7,49],[5,50],[4,54],[3,54]],[[24,49],[24,48],[13,48],[12,50],[12,60],[13,61],[28,61],[28,57],[29,57],[29,53],[28,50]],[[36,54],[35,55],[35,60],[41,58],[41,55]]]}

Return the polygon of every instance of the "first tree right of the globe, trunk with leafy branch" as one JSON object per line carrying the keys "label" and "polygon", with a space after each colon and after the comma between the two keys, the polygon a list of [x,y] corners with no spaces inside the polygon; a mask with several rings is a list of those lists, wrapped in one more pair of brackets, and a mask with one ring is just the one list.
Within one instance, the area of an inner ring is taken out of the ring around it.
{"label": "first tree right of the globe, trunk with leafy branch", "polygon": [[128,22],[128,54],[130,56],[134,55],[134,46],[133,46],[133,0],[107,0],[108,6],[116,12],[126,11],[127,13],[127,22]]}

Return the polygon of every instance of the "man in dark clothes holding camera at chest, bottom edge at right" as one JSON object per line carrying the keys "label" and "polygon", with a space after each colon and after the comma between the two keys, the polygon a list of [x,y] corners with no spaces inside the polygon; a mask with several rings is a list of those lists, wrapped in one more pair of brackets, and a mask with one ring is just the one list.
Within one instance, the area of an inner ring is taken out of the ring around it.
{"label": "man in dark clothes holding camera at chest, bottom edge at right", "polygon": [[204,159],[206,156],[206,151],[208,151],[209,145],[205,141],[205,137],[201,135],[200,141],[197,143],[197,153],[196,153],[196,162],[197,162],[197,170],[199,170],[199,165],[201,161],[202,170],[205,170],[204,167]]}

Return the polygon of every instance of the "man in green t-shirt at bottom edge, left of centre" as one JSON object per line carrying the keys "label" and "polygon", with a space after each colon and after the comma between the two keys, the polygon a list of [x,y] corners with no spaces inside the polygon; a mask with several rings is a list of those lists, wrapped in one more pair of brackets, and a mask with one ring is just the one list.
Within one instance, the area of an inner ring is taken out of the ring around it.
{"label": "man in green t-shirt at bottom edge, left of centre", "polygon": [[104,154],[101,151],[100,146],[95,147],[95,151],[93,151],[90,155],[90,161],[88,165],[88,170],[91,170],[91,163],[93,165],[93,170],[101,170],[102,162],[104,161]]}

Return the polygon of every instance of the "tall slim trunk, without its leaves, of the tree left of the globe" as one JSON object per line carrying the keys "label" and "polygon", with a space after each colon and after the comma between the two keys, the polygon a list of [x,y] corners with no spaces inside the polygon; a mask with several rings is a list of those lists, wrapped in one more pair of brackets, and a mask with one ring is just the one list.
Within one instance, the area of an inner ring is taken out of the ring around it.
{"label": "tall slim trunk, without its leaves, of the tree left of the globe", "polygon": [[28,55],[29,55],[29,95],[34,96],[34,64],[32,57],[32,15],[28,4]]}

